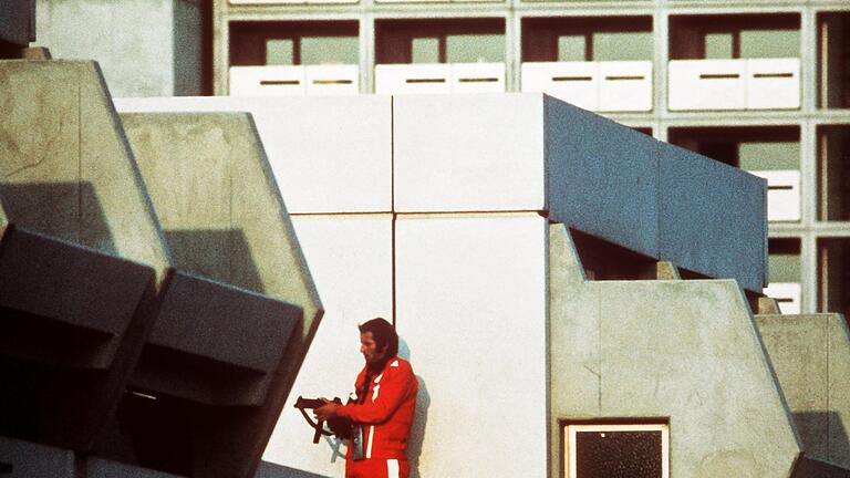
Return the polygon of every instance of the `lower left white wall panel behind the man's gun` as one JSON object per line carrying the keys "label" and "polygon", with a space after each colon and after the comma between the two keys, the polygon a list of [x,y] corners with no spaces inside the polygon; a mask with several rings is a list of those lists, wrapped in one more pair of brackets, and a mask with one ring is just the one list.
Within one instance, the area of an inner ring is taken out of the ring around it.
{"label": "lower left white wall panel behind the man's gun", "polygon": [[313,430],[293,404],[299,395],[345,401],[363,367],[357,324],[375,316],[392,321],[393,219],[391,215],[293,216],[292,224],[325,314],[263,459],[342,476],[345,446],[331,438],[313,445]]}

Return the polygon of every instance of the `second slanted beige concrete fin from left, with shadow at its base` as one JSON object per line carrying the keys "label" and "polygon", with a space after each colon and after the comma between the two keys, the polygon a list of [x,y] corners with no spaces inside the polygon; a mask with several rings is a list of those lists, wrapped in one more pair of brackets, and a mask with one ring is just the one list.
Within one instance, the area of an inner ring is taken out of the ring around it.
{"label": "second slanted beige concrete fin from left, with shadow at its base", "polygon": [[122,121],[176,266],[303,309],[293,336],[300,355],[288,356],[297,370],[322,305],[250,116],[138,113]]}

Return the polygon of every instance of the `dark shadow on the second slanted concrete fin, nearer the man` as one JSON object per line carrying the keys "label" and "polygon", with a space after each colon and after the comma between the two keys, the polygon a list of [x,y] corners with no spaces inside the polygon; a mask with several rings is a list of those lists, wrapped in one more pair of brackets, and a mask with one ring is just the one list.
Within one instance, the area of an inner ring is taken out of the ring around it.
{"label": "dark shadow on the second slanted concrete fin, nearer the man", "polygon": [[178,269],[266,293],[251,248],[239,229],[169,229],[165,238]]}

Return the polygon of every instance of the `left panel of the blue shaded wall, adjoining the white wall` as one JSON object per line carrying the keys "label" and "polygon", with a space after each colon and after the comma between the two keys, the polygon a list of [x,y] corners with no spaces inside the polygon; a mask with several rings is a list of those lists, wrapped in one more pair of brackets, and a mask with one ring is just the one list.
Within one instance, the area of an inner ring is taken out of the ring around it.
{"label": "left panel of the blue shaded wall, adjoining the white wall", "polygon": [[545,96],[549,218],[659,258],[662,143]]}

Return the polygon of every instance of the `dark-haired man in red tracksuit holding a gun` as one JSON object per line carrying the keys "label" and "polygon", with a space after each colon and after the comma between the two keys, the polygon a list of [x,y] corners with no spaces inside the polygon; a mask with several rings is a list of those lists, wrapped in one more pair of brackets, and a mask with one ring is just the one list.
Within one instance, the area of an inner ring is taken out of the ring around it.
{"label": "dark-haired man in red tracksuit holding a gun", "polygon": [[354,383],[356,401],[338,405],[325,399],[315,417],[349,418],[354,435],[362,432],[361,446],[349,443],[345,478],[407,478],[411,467],[405,450],[416,409],[416,376],[411,364],[396,355],[398,335],[384,319],[360,325],[360,352],[366,365]]}

